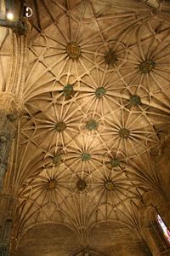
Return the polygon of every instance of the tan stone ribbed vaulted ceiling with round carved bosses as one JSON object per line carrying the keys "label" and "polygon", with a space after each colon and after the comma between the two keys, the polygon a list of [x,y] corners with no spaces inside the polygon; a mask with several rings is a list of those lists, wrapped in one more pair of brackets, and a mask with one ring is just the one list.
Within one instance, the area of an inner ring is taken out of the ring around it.
{"label": "tan stone ribbed vaulted ceiling with round carved bosses", "polygon": [[[34,225],[64,224],[82,246],[122,255],[118,239],[133,255],[147,255],[139,205],[146,191],[161,190],[155,127],[170,119],[166,4],[156,11],[137,0],[30,1],[14,175],[19,240]],[[98,236],[103,245],[93,241]]]}

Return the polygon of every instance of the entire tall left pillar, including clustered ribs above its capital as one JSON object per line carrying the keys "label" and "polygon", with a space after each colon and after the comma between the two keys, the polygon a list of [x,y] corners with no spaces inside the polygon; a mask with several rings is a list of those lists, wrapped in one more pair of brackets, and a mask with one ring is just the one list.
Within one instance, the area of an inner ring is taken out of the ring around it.
{"label": "entire tall left pillar, including clustered ribs above its capital", "polygon": [[0,256],[8,255],[16,207],[16,193],[11,182],[14,170],[9,168],[8,161],[17,120],[23,109],[20,102],[25,84],[27,49],[26,37],[20,36],[26,32],[23,22],[20,20],[17,35],[8,28],[0,27],[0,71],[3,74],[0,77]]}

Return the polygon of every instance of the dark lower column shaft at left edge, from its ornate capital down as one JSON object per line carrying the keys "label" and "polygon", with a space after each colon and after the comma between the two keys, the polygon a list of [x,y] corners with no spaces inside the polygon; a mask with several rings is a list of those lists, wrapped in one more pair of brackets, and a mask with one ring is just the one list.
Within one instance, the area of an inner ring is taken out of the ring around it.
{"label": "dark lower column shaft at left edge, from its ornate capital down", "polygon": [[0,93],[0,256],[8,256],[16,200],[12,184],[6,186],[8,157],[16,134],[20,104],[8,92]]}

